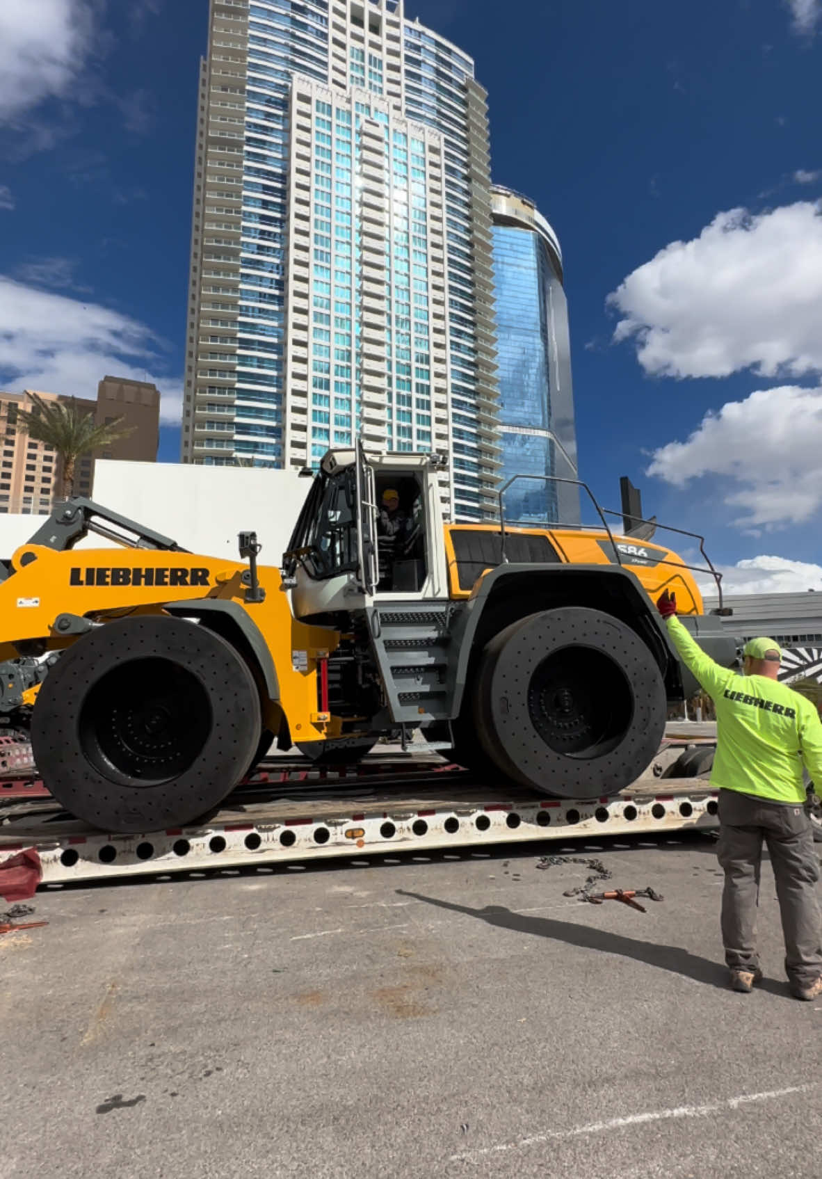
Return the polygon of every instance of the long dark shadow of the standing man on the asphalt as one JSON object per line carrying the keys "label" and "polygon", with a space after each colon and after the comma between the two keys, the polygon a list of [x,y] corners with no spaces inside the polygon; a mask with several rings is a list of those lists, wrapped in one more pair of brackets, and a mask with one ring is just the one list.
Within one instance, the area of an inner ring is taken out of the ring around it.
{"label": "long dark shadow of the standing man on the asphalt", "polygon": [[[452,901],[440,901],[433,896],[423,896],[421,893],[408,893],[405,889],[395,889],[400,896],[410,896],[415,901],[425,904],[433,904],[438,909],[451,909],[454,913],[465,913],[469,917],[479,917],[489,926],[498,926],[500,929],[513,929],[520,934],[531,934],[535,937],[548,937],[555,942],[565,942],[567,946],[577,946],[586,950],[600,950],[604,954],[619,954],[623,957],[633,959],[636,962],[644,962],[646,966],[659,967],[670,970],[672,974],[682,974],[695,982],[702,982],[708,987],[718,987],[728,990],[728,970],[718,962],[710,959],[699,957],[691,954],[680,946],[658,946],[655,942],[643,942],[636,937],[625,937],[623,934],[613,934],[607,929],[593,929],[590,926],[578,926],[570,921],[557,921],[554,917],[533,917],[519,913],[512,913],[501,904],[487,904],[484,909],[472,909],[465,904],[454,904]],[[757,983],[757,990],[767,990],[780,999],[788,996],[788,984],[780,984],[776,980],[763,979]]]}

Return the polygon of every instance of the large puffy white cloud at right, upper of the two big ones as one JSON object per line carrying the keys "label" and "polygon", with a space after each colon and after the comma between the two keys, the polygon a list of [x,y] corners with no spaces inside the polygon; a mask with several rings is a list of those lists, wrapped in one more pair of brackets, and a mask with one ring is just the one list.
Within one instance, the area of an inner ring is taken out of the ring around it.
{"label": "large puffy white cloud at right, upper of the two big ones", "polygon": [[718,213],[630,274],[607,304],[623,316],[613,340],[633,340],[650,374],[822,370],[822,204]]}

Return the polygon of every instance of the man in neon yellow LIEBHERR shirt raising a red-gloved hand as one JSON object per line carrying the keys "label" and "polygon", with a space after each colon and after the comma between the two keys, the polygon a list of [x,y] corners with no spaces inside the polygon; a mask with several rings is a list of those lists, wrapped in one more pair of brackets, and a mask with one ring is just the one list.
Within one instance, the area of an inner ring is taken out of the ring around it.
{"label": "man in neon yellow LIEBHERR shirt raising a red-gloved hand", "polygon": [[802,766],[822,793],[822,722],[810,700],[777,679],[772,639],[745,644],[743,674],[710,659],[677,618],[668,591],[657,602],[679,658],[716,706],[711,785],[719,788],[722,940],[734,990],[762,977],[756,950],[762,844],[768,847],[785,940],[785,971],[797,999],[822,995],[820,878]]}

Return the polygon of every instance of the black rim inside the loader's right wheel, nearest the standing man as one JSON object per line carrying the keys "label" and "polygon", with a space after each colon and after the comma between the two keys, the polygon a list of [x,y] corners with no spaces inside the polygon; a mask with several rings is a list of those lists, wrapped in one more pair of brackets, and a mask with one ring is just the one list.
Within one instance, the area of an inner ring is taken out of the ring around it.
{"label": "black rim inside the loader's right wheel, nearest the standing man", "polygon": [[566,757],[600,757],[614,749],[633,719],[627,677],[592,647],[553,651],[528,684],[528,714],[550,749]]}

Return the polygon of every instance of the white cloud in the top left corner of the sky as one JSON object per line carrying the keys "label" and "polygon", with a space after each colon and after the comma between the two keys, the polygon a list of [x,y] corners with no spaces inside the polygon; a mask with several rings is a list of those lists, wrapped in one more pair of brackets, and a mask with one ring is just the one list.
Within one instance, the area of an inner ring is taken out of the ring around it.
{"label": "white cloud in the top left corner of the sky", "polygon": [[96,0],[2,0],[0,124],[66,98],[94,52]]}

